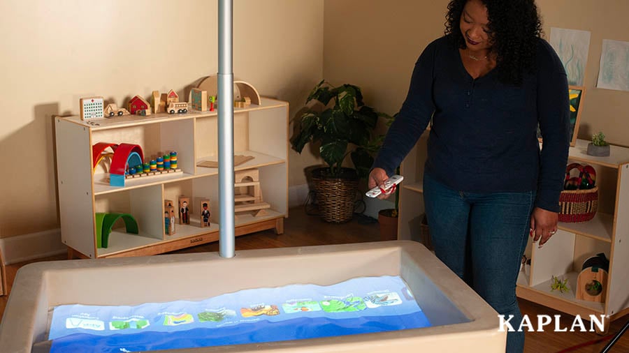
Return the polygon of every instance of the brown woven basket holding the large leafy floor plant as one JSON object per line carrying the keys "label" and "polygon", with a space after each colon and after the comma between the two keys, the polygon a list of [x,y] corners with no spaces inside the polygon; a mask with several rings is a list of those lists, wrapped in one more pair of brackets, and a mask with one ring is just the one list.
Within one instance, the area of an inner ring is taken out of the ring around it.
{"label": "brown woven basket holding the large leafy floor plant", "polygon": [[326,177],[328,168],[312,171],[312,180],[317,190],[319,214],[326,222],[344,223],[354,216],[354,202],[358,192],[359,178],[356,172],[343,168],[341,175],[348,177]]}

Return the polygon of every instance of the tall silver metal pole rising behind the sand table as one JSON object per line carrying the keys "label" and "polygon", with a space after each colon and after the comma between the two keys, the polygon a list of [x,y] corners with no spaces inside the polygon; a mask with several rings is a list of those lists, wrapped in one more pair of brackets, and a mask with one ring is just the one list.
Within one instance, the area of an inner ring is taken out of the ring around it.
{"label": "tall silver metal pole rising behind the sand table", "polygon": [[233,217],[233,0],[219,0],[219,255],[235,255],[236,225]]}

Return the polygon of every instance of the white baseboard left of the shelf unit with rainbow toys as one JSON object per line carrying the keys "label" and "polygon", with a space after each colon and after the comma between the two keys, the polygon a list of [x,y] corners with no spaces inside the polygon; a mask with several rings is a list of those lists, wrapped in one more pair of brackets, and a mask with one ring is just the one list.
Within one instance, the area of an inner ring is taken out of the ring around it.
{"label": "white baseboard left of the shelf unit with rainbow toys", "polygon": [[15,264],[66,253],[68,248],[62,243],[61,230],[45,230],[0,239],[0,250],[5,264]]}

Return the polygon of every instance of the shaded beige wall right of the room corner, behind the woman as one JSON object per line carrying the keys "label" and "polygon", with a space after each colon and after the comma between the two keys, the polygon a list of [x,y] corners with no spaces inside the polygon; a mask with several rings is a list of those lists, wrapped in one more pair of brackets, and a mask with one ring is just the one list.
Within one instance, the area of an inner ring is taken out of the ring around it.
{"label": "shaded beige wall right of the room corner, behind the woman", "polygon": [[[406,96],[412,68],[431,40],[442,35],[447,0],[326,0],[324,77],[353,83],[367,103],[393,114]],[[547,38],[551,27],[591,31],[586,96],[579,138],[602,130],[629,146],[629,92],[596,89],[602,39],[629,41],[629,1],[537,0]]]}

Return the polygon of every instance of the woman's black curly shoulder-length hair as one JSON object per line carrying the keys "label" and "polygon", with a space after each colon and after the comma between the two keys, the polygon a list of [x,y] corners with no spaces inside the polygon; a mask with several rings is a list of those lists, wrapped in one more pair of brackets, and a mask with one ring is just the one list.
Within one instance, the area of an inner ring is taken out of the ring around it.
{"label": "woman's black curly shoulder-length hair", "polygon": [[[542,21],[535,0],[480,0],[487,8],[489,31],[493,37],[491,51],[496,54],[500,81],[521,84],[525,73],[535,70],[538,38]],[[459,23],[468,0],[452,0],[448,4],[445,31],[454,43],[465,49],[465,38]]]}

